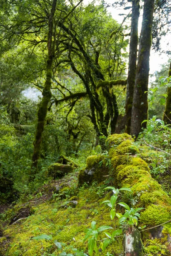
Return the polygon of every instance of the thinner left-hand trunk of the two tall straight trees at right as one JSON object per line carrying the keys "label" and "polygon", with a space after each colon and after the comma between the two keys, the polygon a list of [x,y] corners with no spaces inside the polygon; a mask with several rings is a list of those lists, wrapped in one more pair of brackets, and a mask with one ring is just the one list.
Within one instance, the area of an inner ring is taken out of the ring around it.
{"label": "thinner left-hand trunk of the two tall straight trees at right", "polygon": [[132,104],[133,104],[133,90],[134,90],[135,77],[136,77],[138,20],[139,20],[139,0],[135,0],[132,2],[127,96],[126,96],[126,104],[125,104],[126,132],[128,134],[130,134],[130,121],[131,121],[131,112],[132,112]]}

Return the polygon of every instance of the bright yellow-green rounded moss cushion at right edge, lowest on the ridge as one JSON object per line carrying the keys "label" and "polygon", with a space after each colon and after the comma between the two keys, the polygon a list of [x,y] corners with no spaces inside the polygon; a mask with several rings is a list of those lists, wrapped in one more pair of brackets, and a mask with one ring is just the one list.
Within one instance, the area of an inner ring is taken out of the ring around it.
{"label": "bright yellow-green rounded moss cushion at right edge, lowest on the ridge", "polygon": [[159,225],[171,219],[171,208],[162,205],[149,205],[141,213],[141,221],[146,225]]}

